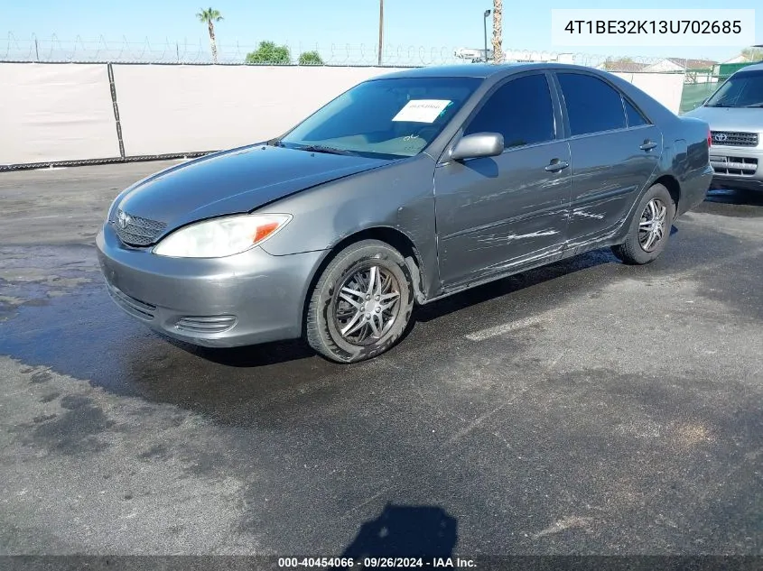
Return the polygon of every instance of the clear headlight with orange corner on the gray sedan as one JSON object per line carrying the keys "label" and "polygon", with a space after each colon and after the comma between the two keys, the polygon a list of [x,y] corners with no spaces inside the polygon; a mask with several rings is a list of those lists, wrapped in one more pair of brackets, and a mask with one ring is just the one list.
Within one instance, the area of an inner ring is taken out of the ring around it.
{"label": "clear headlight with orange corner on the gray sedan", "polygon": [[175,258],[221,258],[262,244],[292,219],[288,214],[243,214],[213,218],[175,230],[154,253]]}

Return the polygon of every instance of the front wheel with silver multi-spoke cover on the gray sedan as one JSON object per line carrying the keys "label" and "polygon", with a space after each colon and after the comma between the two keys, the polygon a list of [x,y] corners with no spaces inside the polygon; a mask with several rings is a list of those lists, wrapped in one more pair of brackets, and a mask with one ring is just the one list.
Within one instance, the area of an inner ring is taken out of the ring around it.
{"label": "front wheel with silver multi-spoke cover on the gray sedan", "polygon": [[331,361],[364,361],[395,345],[413,309],[403,256],[389,244],[363,240],[338,253],[321,273],[305,318],[307,341]]}

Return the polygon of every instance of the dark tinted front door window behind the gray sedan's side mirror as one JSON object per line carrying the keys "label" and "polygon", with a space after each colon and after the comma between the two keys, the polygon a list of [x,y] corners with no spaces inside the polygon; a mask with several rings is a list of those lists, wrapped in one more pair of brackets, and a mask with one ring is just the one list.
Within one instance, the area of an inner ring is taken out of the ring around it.
{"label": "dark tinted front door window behind the gray sedan's side mirror", "polygon": [[506,148],[553,141],[554,105],[544,74],[511,79],[498,87],[465,134],[500,133]]}

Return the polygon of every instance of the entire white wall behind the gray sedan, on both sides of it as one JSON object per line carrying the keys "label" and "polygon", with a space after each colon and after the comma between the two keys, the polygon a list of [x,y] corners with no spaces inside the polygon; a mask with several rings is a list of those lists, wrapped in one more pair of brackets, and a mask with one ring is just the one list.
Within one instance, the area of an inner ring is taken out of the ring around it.
{"label": "entire white wall behind the gray sedan, on both sides of it", "polygon": [[[388,68],[113,66],[126,156],[282,134]],[[683,74],[618,73],[678,112]],[[105,64],[0,63],[0,165],[119,157]]]}

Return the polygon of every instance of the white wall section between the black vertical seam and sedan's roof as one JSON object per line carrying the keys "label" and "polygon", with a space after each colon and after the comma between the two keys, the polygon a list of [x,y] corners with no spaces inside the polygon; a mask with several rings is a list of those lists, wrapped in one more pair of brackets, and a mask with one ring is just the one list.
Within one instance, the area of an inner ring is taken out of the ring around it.
{"label": "white wall section between the black vertical seam and sedan's roof", "polygon": [[125,152],[208,151],[282,134],[388,68],[114,65]]}

